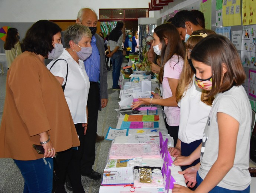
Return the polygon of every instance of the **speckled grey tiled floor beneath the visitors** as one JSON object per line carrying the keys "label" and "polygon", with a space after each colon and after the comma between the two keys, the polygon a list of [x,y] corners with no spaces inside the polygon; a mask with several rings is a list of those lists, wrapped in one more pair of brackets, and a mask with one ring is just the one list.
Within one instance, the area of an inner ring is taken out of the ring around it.
{"label": "speckled grey tiled floor beneath the visitors", "polygon": [[[123,63],[124,65],[125,63]],[[127,64],[127,63],[126,63]],[[2,119],[5,98],[6,75],[0,75],[0,120]],[[117,124],[119,91],[112,91],[112,71],[108,72],[108,105],[99,112],[97,133],[106,136],[108,127]],[[96,143],[96,158],[93,169],[101,175],[106,164],[111,141],[104,140]],[[98,193],[101,180],[91,180],[82,176],[82,184],[86,193]],[[0,159],[0,193],[22,193],[24,187],[23,177],[12,159]],[[67,193],[71,193],[67,190]]]}

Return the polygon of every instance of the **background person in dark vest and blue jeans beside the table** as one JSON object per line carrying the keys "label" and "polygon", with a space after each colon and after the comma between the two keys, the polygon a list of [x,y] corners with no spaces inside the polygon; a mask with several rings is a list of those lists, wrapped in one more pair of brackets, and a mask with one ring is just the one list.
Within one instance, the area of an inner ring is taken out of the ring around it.
{"label": "background person in dark vest and blue jeans beside the table", "polygon": [[112,72],[112,79],[113,85],[112,90],[120,90],[120,86],[118,85],[118,80],[120,76],[120,70],[122,66],[122,43],[123,43],[123,36],[122,29],[124,27],[124,22],[117,21],[116,27],[113,29],[109,34],[109,41],[108,41],[108,50],[110,53],[107,57],[110,57],[113,64],[113,72]]}

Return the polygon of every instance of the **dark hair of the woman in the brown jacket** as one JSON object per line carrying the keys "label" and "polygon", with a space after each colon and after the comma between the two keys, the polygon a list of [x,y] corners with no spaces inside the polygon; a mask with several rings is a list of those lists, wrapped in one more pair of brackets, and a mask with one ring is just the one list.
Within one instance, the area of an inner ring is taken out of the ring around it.
{"label": "dark hair of the woman in the brown jacket", "polygon": [[22,52],[31,51],[47,57],[48,53],[53,50],[53,36],[60,32],[61,28],[48,20],[39,20],[34,23],[20,44]]}

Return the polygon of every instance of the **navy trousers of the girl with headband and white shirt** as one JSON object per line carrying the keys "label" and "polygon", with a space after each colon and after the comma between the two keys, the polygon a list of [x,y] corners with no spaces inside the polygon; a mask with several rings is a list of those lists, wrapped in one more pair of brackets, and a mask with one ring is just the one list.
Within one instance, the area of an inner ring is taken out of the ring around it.
{"label": "navy trousers of the girl with headband and white shirt", "polygon": [[[189,156],[191,153],[194,152],[195,149],[197,149],[197,147],[202,143],[202,140],[196,140],[194,142],[191,143],[184,143],[181,142],[181,155],[182,156]],[[197,160],[195,160],[191,165],[188,166],[181,166],[182,170],[186,170],[188,167],[191,166],[195,166],[196,164],[198,164],[200,162],[200,158],[198,158]]]}

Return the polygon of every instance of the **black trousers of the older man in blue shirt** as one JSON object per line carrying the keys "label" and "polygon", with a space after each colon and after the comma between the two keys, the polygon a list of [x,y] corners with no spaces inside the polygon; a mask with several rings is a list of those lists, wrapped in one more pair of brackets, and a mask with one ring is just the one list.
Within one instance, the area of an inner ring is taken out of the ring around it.
{"label": "black trousers of the older man in blue shirt", "polygon": [[92,172],[92,166],[95,161],[95,140],[97,133],[98,111],[100,105],[99,84],[90,82],[90,89],[87,100],[88,108],[88,128],[84,136],[85,143],[83,149],[83,157],[81,160],[82,174]]}

